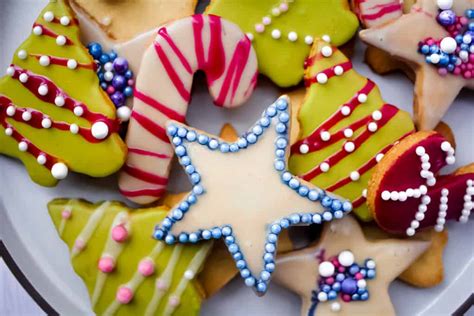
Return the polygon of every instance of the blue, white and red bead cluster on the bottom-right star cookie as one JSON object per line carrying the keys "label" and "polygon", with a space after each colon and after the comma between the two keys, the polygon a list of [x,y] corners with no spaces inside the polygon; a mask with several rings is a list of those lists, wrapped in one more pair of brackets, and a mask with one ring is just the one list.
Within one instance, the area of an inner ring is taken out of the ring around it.
{"label": "blue, white and red bead cluster on the bottom-right star cookie", "polygon": [[[375,278],[375,261],[366,259],[364,265],[355,263],[354,254],[344,250],[339,255],[319,264],[319,289],[313,291],[313,303],[336,300],[344,302],[367,301],[369,292],[367,280]],[[334,302],[332,311],[339,311],[341,305]]]}

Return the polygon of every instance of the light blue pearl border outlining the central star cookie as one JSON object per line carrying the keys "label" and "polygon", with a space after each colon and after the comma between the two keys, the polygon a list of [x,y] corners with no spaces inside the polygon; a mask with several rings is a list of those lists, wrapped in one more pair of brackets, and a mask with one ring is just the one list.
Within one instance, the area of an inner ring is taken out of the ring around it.
{"label": "light blue pearl border outlining the central star cookie", "polygon": [[[245,284],[249,287],[255,287],[258,294],[264,294],[267,290],[271,274],[275,269],[278,235],[283,229],[297,224],[321,224],[324,221],[331,221],[334,218],[342,218],[345,213],[352,210],[352,204],[349,201],[333,199],[326,195],[321,189],[309,189],[307,186],[301,184],[297,177],[286,170],[285,159],[286,150],[289,145],[288,129],[290,122],[288,107],[287,99],[285,97],[279,98],[263,112],[262,117],[254,127],[234,143],[210,138],[207,135],[198,134],[192,130],[188,131],[182,126],[170,125],[167,128],[167,133],[172,137],[172,143],[175,145],[175,153],[179,158],[180,164],[188,174],[193,184],[193,189],[185,201],[170,211],[170,215],[161,222],[161,227],[156,227],[154,237],[158,240],[165,240],[167,244],[174,244],[176,242],[196,243],[199,240],[224,238],[227,248],[236,262],[236,267],[240,271],[240,275],[245,279]],[[274,169],[280,174],[281,181],[290,189],[311,201],[320,201],[326,210],[322,214],[292,214],[289,217],[282,218],[269,225],[265,243],[265,253],[263,256],[264,269],[260,273],[260,277],[257,278],[252,275],[247,268],[247,262],[239,249],[239,245],[232,233],[232,227],[230,225],[202,229],[189,234],[183,232],[178,236],[174,236],[169,232],[173,224],[180,221],[190,207],[197,202],[199,196],[205,194],[205,188],[200,184],[201,175],[193,166],[191,158],[187,154],[185,142],[197,142],[203,146],[207,146],[209,150],[216,150],[222,153],[236,153],[255,144],[263,132],[272,125],[273,119],[277,120],[275,130],[278,134],[275,140]]]}

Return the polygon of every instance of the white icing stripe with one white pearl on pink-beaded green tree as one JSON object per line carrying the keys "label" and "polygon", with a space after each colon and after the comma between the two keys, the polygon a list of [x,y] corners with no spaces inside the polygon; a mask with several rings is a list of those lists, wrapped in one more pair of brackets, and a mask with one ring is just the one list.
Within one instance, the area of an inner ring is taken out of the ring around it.
{"label": "white icing stripe with one white pearl on pink-beaded green tree", "polygon": [[176,308],[179,306],[179,303],[175,304],[175,305],[170,304],[169,300],[171,298],[177,298],[178,300],[181,298],[181,296],[183,295],[184,290],[188,286],[188,283],[192,279],[194,279],[196,273],[201,268],[201,265],[202,265],[203,261],[206,259],[207,254],[211,250],[211,247],[212,247],[211,242],[205,243],[205,245],[202,246],[202,248],[193,257],[193,259],[189,263],[188,267],[186,268],[183,276],[181,277],[181,280],[179,281],[178,287],[169,296],[168,304],[166,305],[166,309],[165,309],[163,315],[172,315],[173,312],[176,310]]}

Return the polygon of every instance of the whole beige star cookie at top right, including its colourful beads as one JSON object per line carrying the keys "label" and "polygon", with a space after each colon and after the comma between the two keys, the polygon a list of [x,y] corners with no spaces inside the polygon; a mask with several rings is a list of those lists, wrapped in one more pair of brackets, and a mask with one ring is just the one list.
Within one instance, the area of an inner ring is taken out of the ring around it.
{"label": "whole beige star cookie at top right, including its colourful beads", "polygon": [[420,130],[433,129],[462,88],[474,89],[473,19],[473,0],[418,0],[409,14],[360,32],[414,70]]}

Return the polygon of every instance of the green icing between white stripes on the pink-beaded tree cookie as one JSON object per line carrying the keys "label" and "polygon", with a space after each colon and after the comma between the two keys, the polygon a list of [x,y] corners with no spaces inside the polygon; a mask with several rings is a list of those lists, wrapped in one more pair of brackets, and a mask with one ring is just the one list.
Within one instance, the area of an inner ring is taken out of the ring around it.
{"label": "green icing between white stripes on the pink-beaded tree cookie", "polygon": [[[67,205],[72,209],[72,216],[66,221],[61,238],[71,250],[77,236],[84,229],[90,216],[97,210],[101,203],[91,204],[85,201],[56,199],[48,204],[49,213],[55,227],[59,230],[63,221],[61,213]],[[117,214],[123,211],[129,212],[131,233],[124,243],[122,252],[116,260],[116,268],[107,274],[107,279],[103,287],[102,294],[93,306],[93,310],[98,314],[103,314],[109,305],[115,300],[117,289],[129,282],[137,271],[140,260],[149,256],[152,249],[159,243],[152,238],[156,223],[160,222],[168,213],[166,206],[159,206],[133,211],[119,202],[112,202],[106,209],[99,225],[94,230],[87,246],[82,252],[72,258],[72,265],[76,273],[83,279],[87,286],[89,295],[92,298],[94,286],[99,275],[97,263],[101,257],[107,240],[110,239],[110,229]],[[161,299],[156,315],[163,315],[168,299],[174,292],[178,283],[183,277],[191,260],[197,252],[205,245],[190,245],[183,247],[178,263],[175,267],[172,283]],[[166,246],[155,259],[155,274],[145,278],[141,285],[134,292],[132,301],[128,304],[120,305],[116,311],[117,315],[144,315],[146,308],[156,289],[156,278],[159,277],[166,268],[175,246]],[[186,286],[181,303],[174,311],[173,315],[198,315],[202,300],[202,291],[197,281],[191,281]]]}

